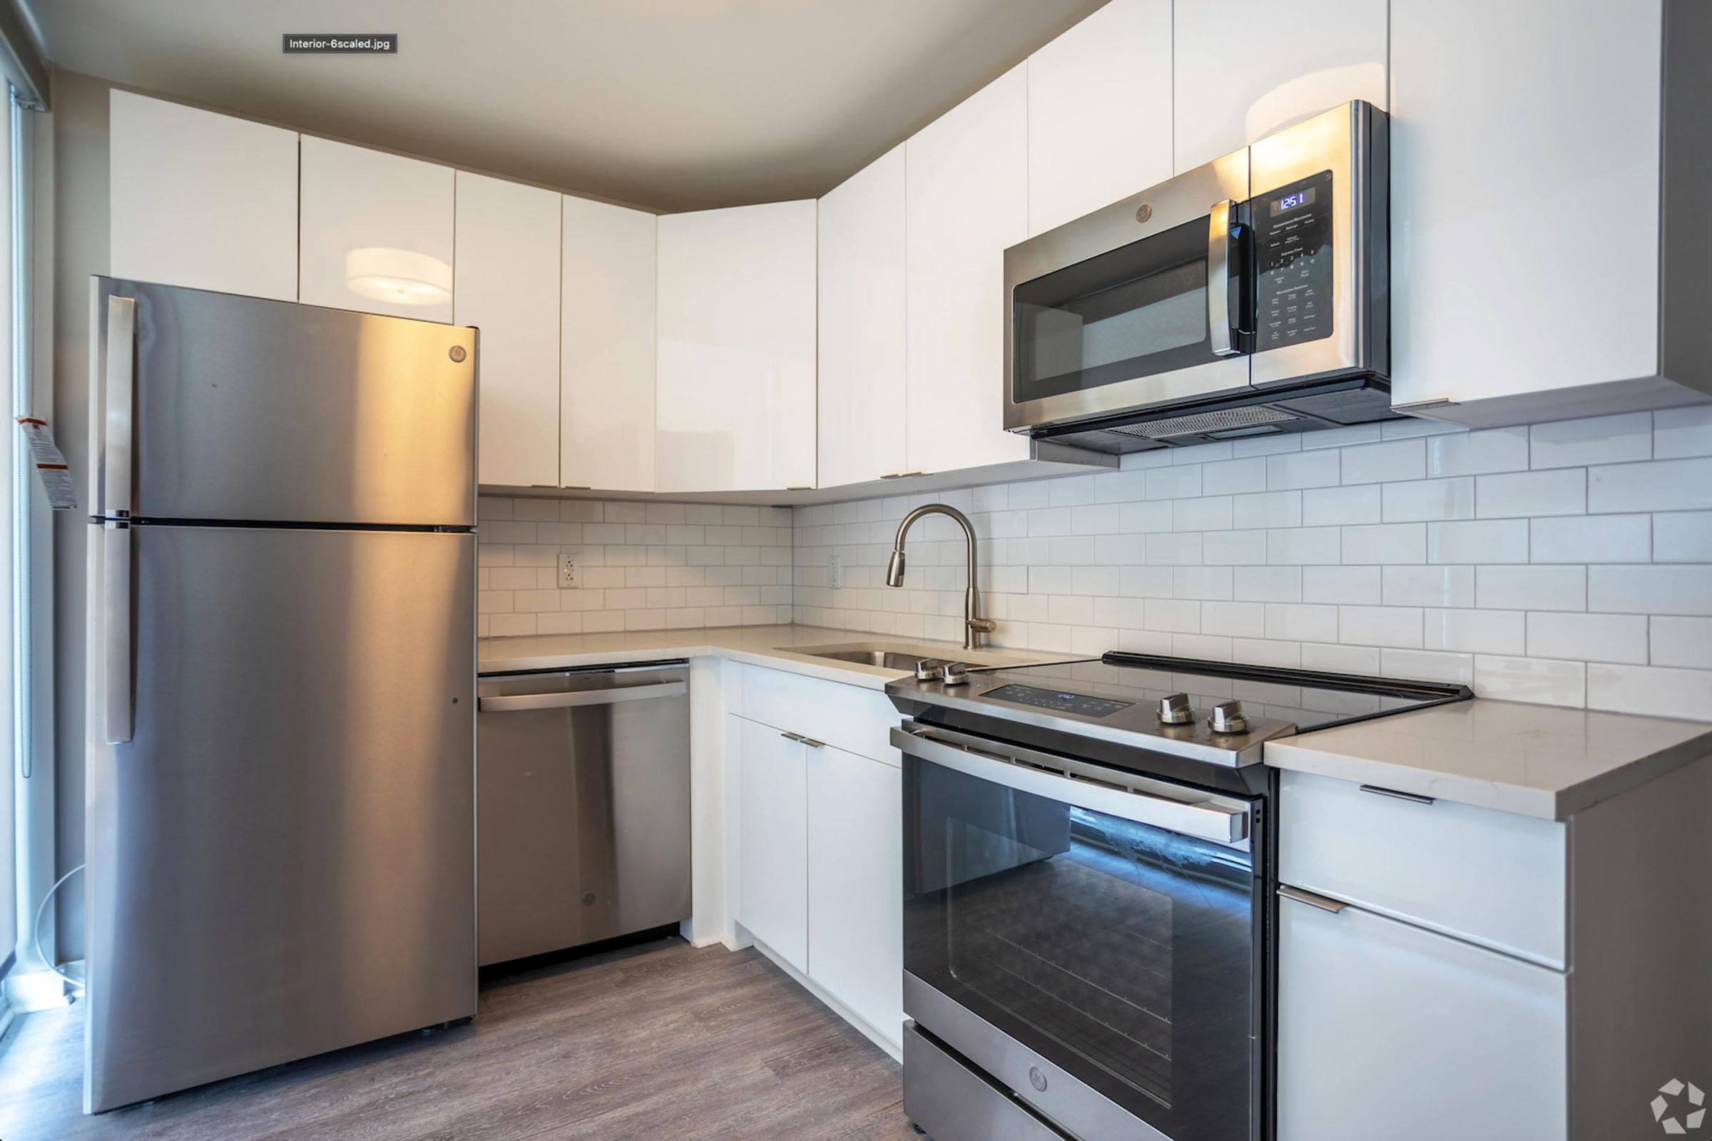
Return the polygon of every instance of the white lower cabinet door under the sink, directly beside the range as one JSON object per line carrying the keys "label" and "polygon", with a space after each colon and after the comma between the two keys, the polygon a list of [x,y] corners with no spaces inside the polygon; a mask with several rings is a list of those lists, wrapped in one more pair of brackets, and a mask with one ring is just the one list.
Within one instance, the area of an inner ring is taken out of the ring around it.
{"label": "white lower cabinet door under the sink, directly beside the range", "polygon": [[902,770],[832,746],[806,758],[808,975],[902,1047]]}

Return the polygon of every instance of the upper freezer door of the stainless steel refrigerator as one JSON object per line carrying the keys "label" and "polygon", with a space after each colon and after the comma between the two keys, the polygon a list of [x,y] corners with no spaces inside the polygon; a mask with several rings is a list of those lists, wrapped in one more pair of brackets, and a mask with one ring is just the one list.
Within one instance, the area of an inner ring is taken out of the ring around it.
{"label": "upper freezer door of the stainless steel refrigerator", "polygon": [[[125,298],[134,342],[110,344]],[[111,279],[94,304],[96,515],[474,523],[474,328]]]}

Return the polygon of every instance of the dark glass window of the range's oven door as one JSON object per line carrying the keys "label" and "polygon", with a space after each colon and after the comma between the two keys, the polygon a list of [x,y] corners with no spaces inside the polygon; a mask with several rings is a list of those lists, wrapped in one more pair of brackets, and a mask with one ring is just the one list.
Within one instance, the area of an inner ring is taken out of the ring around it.
{"label": "dark glass window of the range's oven door", "polygon": [[904,766],[904,968],[1174,1141],[1246,1141],[1250,854]]}

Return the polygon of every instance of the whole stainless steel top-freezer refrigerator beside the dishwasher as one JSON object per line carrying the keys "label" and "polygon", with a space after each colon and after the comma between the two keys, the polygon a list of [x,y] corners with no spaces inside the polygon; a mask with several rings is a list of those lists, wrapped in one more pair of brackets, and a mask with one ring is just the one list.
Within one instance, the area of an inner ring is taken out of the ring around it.
{"label": "whole stainless steel top-freezer refrigerator beside the dishwasher", "polygon": [[476,330],[94,279],[99,1112],[476,1011]]}

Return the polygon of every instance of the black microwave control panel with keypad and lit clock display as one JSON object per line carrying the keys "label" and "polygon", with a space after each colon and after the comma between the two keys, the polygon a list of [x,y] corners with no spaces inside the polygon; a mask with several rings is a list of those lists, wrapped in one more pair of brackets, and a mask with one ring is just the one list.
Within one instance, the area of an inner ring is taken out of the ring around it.
{"label": "black microwave control panel with keypad and lit clock display", "polygon": [[1332,335],[1332,171],[1251,204],[1255,352]]}

